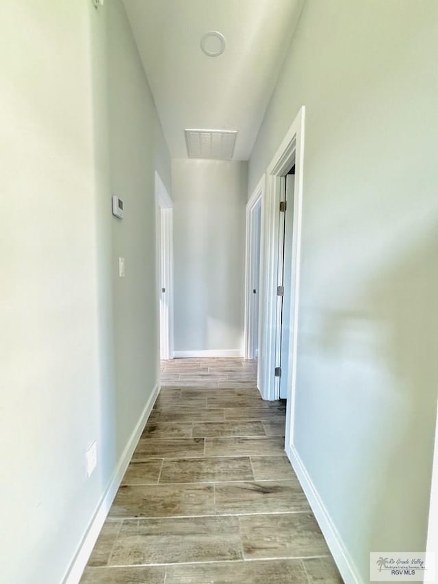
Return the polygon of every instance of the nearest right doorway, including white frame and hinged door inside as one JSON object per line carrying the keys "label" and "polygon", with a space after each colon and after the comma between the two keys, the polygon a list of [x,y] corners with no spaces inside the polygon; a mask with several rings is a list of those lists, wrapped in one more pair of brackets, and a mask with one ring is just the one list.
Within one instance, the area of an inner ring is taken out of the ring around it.
{"label": "nearest right doorway, including white frame and hinged door inside", "polygon": [[[302,106],[268,166],[263,197],[259,388],[264,399],[287,400],[288,455],[294,442],[304,123]],[[284,204],[287,218],[281,220]]]}

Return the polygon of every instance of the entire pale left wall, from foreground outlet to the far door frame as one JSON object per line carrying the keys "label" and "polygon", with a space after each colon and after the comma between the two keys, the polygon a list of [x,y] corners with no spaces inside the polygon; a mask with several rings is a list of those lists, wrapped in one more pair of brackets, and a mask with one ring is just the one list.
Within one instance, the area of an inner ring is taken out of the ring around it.
{"label": "entire pale left wall, from foreground outlet to the far door frame", "polygon": [[0,581],[60,584],[157,381],[170,160],[118,0],[7,0],[0,30]]}

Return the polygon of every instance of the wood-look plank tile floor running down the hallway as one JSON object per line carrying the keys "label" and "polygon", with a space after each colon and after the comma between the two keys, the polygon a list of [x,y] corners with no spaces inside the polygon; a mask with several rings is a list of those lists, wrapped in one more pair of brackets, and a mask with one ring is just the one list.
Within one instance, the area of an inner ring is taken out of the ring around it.
{"label": "wood-look plank tile floor running down the hallway", "polygon": [[174,359],[81,584],[339,584],[256,364]]}

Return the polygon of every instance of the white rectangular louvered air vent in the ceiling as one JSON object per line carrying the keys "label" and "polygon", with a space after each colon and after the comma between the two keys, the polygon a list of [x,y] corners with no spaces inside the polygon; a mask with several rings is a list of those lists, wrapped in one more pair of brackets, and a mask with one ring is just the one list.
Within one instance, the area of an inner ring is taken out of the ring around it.
{"label": "white rectangular louvered air vent in the ceiling", "polygon": [[235,130],[186,129],[185,142],[190,158],[231,160],[234,152]]}

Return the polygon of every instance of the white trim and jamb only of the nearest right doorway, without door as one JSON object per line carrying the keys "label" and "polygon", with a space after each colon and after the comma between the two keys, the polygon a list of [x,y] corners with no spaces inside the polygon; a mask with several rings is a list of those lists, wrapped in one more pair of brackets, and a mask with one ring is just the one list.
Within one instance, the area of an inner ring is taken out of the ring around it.
{"label": "white trim and jamb only of the nearest right doorway, without door", "polygon": [[[298,340],[298,305],[300,283],[300,244],[302,223],[302,176],[304,161],[305,106],[300,107],[296,118],[287,130],[266,172],[266,196],[264,197],[264,245],[263,245],[263,309],[261,322],[263,328],[261,353],[263,356],[261,394],[264,399],[279,398],[279,383],[274,375],[276,363],[276,330],[278,326],[277,311],[277,266],[279,241],[279,204],[281,185],[284,176],[292,164],[295,164],[294,186],[294,224],[293,251],[291,270],[291,298],[294,307],[290,312],[289,331],[289,366],[287,371],[287,415],[286,415],[286,451],[292,445],[294,435],[294,410],[296,389],[296,355]],[[287,283],[285,283],[287,285]]]}

